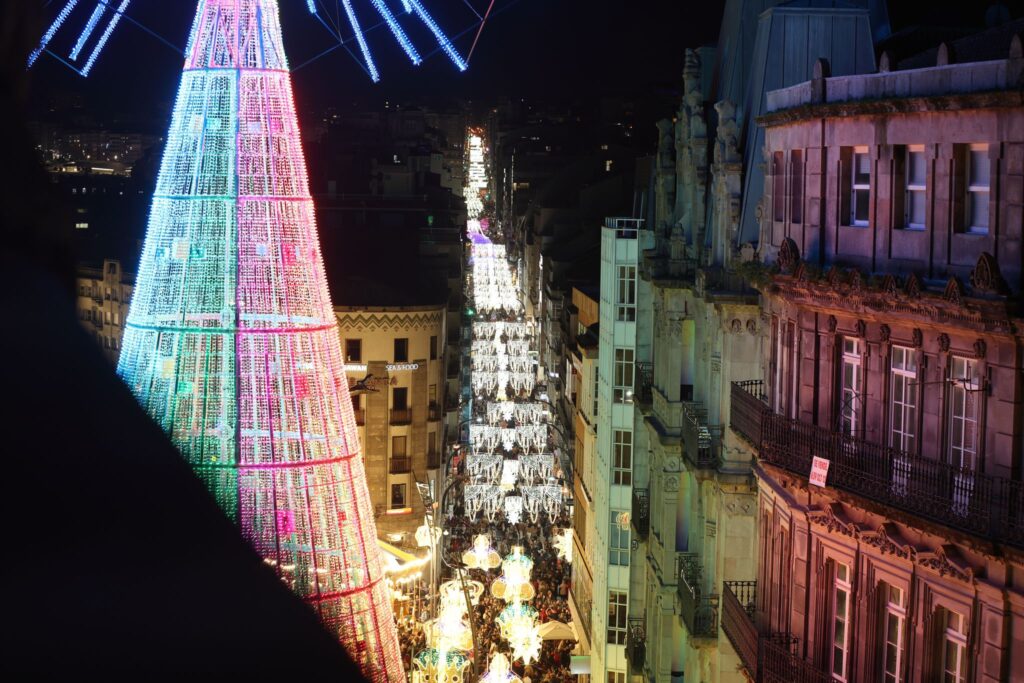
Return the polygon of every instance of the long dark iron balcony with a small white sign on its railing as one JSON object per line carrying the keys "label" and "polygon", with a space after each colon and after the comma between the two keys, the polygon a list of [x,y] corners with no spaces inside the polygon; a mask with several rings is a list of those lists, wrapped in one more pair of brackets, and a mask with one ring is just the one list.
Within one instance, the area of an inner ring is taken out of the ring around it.
{"label": "long dark iron balcony with a small white sign on its railing", "polygon": [[758,458],[807,477],[817,456],[827,484],[993,543],[1024,548],[1024,482],[763,413]]}

